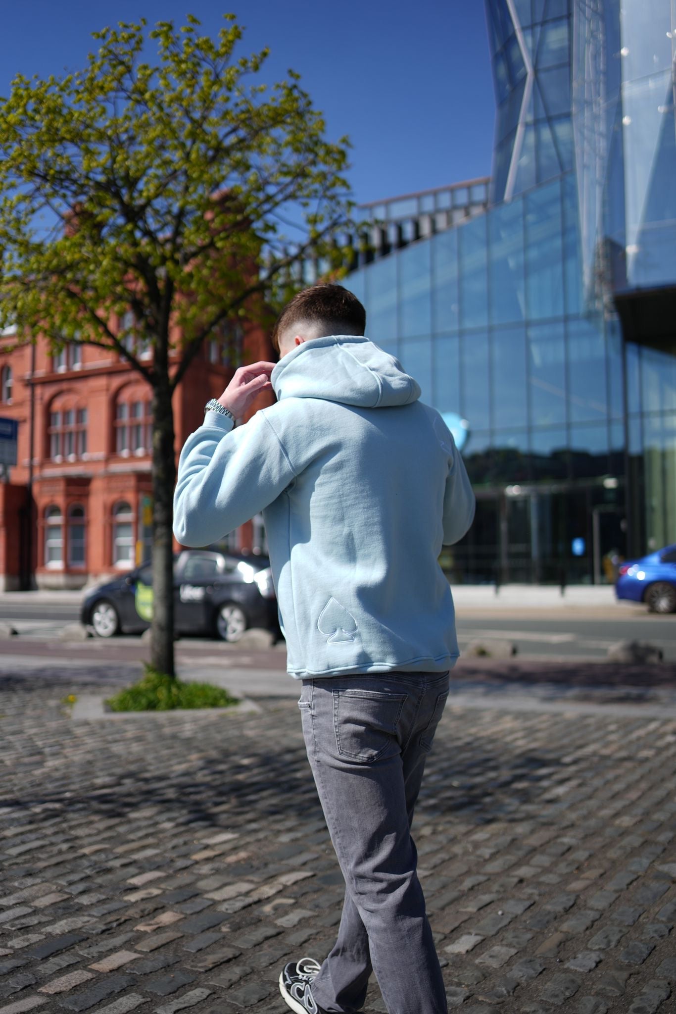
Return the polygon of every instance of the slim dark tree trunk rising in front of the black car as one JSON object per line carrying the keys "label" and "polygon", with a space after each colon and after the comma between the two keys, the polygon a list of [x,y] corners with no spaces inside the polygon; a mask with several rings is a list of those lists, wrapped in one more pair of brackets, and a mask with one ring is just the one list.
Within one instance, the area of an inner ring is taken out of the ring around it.
{"label": "slim dark tree trunk rising in front of the black car", "polygon": [[[158,375],[159,374],[159,375]],[[153,624],[150,661],[159,672],[175,676],[173,659],[173,449],[171,389],[165,370],[153,385]]]}

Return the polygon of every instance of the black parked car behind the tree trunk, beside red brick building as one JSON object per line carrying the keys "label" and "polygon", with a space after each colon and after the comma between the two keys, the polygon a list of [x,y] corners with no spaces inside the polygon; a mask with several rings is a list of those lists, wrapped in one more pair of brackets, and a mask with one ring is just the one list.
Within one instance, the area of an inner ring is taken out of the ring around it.
{"label": "black parked car behind the tree trunk, beside red brick building", "polygon": [[[247,627],[279,633],[267,557],[183,550],[174,556],[173,593],[177,634],[238,641]],[[80,622],[98,637],[141,633],[150,627],[151,615],[149,563],[92,588],[80,609]]]}

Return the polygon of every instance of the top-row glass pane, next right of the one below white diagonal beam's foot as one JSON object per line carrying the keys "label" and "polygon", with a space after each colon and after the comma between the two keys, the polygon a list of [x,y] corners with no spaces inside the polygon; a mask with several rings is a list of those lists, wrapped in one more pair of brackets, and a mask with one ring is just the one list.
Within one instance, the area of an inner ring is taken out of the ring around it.
{"label": "top-row glass pane, next right of the one below white diagonal beam's foot", "polygon": [[531,319],[564,314],[558,182],[526,195],[526,305]]}

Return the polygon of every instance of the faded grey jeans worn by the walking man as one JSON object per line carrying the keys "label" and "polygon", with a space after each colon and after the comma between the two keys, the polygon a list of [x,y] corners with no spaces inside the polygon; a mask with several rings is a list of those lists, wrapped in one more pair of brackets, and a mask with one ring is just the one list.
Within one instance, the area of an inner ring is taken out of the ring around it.
{"label": "faded grey jeans worn by the walking man", "polygon": [[447,1014],[410,824],[448,684],[447,672],[303,680],[307,755],[346,881],[312,984],[324,1011],[360,1010],[373,970],[389,1014]]}

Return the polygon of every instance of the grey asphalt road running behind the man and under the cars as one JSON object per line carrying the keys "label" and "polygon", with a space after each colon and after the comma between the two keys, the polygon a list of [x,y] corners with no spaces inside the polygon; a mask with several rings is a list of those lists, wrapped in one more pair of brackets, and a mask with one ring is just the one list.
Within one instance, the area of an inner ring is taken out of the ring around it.
{"label": "grey asphalt road running behind the man and under the cars", "polygon": [[[521,658],[601,659],[610,645],[628,638],[650,641],[662,648],[665,660],[676,661],[676,614],[658,617],[643,607],[631,606],[618,606],[616,615],[607,609],[588,617],[580,612],[547,610],[540,615],[522,609],[510,615],[494,611],[469,617],[461,614],[457,622],[460,648],[474,639],[486,642],[487,646],[492,641],[508,639],[517,645]],[[0,620],[13,623],[21,640],[24,637],[29,637],[31,641],[52,640],[58,637],[64,624],[77,619],[78,606],[75,603],[0,602]],[[138,638],[116,638],[109,648],[115,645],[127,653],[130,650],[133,652],[133,646],[138,644]],[[217,642],[184,638],[180,644],[185,653],[199,654],[212,648],[219,650]],[[210,644],[212,648],[208,648]],[[89,647],[100,652],[103,645],[91,641],[79,645],[78,656]]]}

